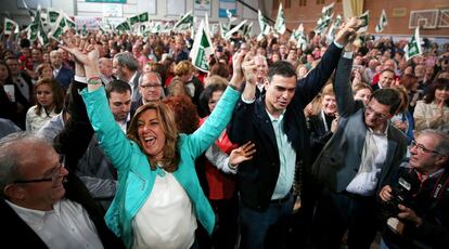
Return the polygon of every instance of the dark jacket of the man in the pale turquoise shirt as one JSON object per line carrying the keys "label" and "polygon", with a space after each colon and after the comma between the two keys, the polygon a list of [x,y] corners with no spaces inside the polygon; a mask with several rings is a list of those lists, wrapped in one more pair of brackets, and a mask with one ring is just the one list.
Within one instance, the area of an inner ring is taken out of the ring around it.
{"label": "dark jacket of the man in the pale turquoise shirt", "polygon": [[[341,53],[342,49],[332,43],[317,68],[296,83],[295,96],[286,107],[283,130],[296,152],[297,167],[310,162],[309,134],[304,108],[320,92],[334,71]],[[239,191],[246,206],[264,211],[269,205],[280,171],[277,140],[266,110],[265,97],[252,104],[238,102],[228,132],[233,143],[241,145],[252,141],[256,144],[257,152],[253,159],[239,167]]]}

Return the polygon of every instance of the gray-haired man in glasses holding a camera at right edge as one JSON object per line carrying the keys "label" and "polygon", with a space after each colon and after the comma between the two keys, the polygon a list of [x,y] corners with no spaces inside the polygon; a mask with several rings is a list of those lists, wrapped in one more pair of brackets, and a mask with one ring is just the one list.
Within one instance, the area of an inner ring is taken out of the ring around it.
{"label": "gray-haired man in glasses holding a camera at right edge", "polygon": [[[410,160],[395,181],[380,193],[388,248],[447,248],[449,245],[449,136],[422,131],[410,149]],[[386,247],[385,247],[386,248]]]}

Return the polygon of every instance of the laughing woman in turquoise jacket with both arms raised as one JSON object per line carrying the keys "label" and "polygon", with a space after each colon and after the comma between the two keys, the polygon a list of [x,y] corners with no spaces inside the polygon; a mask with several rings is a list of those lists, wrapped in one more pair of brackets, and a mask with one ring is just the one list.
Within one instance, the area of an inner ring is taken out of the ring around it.
{"label": "laughing woman in turquoise jacket with both arms raised", "polygon": [[[128,248],[196,247],[196,219],[210,235],[215,214],[200,186],[194,160],[228,124],[243,74],[236,70],[215,112],[192,134],[179,134],[171,110],[152,103],[137,110],[125,135],[107,106],[98,50],[85,41],[78,45],[64,41],[64,49],[85,66],[88,89],[81,95],[89,119],[118,171],[119,188],[106,224]],[[234,60],[234,68],[241,68],[243,55]]]}

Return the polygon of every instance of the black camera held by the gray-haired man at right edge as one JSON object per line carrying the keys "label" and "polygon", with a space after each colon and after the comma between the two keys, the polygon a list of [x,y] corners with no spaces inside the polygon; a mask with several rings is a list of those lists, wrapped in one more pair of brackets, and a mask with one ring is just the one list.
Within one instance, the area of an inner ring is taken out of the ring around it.
{"label": "black camera held by the gray-haired man at right edge", "polygon": [[393,198],[389,201],[383,202],[381,206],[381,213],[384,218],[397,217],[400,212],[398,205],[403,205],[409,208],[414,206],[413,193],[419,184],[407,176],[401,176],[395,186],[392,186]]}

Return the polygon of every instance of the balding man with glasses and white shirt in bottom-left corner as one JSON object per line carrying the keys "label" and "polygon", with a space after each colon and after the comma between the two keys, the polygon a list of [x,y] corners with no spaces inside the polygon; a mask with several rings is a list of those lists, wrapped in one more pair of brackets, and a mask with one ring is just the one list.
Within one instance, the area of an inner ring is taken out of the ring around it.
{"label": "balding man with glasses and white shirt in bottom-left corner", "polygon": [[123,248],[82,183],[40,139],[15,133],[2,140],[0,187],[0,233],[5,245]]}

